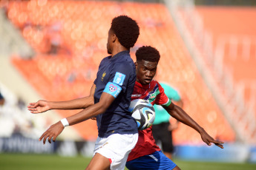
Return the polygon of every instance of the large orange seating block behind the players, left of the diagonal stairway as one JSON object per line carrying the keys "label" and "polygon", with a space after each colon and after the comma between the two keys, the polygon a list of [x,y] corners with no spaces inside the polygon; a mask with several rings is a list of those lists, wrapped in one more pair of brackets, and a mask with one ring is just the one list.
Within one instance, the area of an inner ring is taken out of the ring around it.
{"label": "large orange seating block behind the players, left of the diagonal stairway", "polygon": [[[132,58],[142,45],[156,47],[161,54],[157,80],[179,89],[184,109],[210,135],[234,141],[232,128],[200,77],[163,4],[10,1],[8,18],[37,52],[29,60],[13,56],[13,64],[46,100],[63,101],[88,95],[99,61],[106,55],[111,19],[121,14],[140,24],[140,38],[131,50]],[[59,114],[67,116],[64,112]],[[74,127],[85,140],[95,139],[96,124],[92,120]],[[174,142],[202,143],[197,132],[185,125],[174,133]]]}

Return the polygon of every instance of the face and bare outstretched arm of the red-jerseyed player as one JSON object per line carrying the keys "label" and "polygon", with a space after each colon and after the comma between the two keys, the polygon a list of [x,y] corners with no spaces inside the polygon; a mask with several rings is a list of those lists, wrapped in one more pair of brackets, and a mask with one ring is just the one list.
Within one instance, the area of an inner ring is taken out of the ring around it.
{"label": "face and bare outstretched arm of the red-jerseyed player", "polygon": [[[137,68],[137,82],[142,85],[149,84],[154,75],[157,72],[157,62],[151,61],[139,61],[135,63]],[[223,149],[223,142],[214,140],[201,126],[199,126],[186,112],[181,109],[179,106],[171,103],[169,106],[163,106],[163,108],[175,119],[180,122],[190,126],[195,129],[198,133],[200,133],[203,142],[205,142],[208,146],[211,146],[211,143],[214,143],[216,146]]]}

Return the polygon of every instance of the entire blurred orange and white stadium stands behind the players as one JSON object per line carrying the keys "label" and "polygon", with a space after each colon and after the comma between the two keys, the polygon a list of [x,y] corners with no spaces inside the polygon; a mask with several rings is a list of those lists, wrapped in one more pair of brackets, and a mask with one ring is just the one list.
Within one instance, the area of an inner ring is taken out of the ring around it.
{"label": "entire blurred orange and white stadium stands behind the players", "polygon": [[[155,79],[180,92],[183,109],[226,143],[256,143],[255,1],[0,1],[0,137],[38,138],[78,111],[31,115],[29,102],[89,94],[107,56],[111,20],[140,26],[131,56],[143,45],[160,51]],[[66,130],[65,130],[66,131]],[[96,140],[96,123],[69,127],[60,140]],[[203,144],[180,124],[175,145]]]}

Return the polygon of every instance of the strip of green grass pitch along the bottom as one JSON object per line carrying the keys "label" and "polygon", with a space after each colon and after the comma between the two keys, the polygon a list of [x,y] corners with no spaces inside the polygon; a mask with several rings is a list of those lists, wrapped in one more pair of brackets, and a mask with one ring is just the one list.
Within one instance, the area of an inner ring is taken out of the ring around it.
{"label": "strip of green grass pitch along the bottom", "polygon": [[[85,169],[90,162],[91,157],[60,157],[56,154],[0,154],[0,169]],[[209,162],[192,162],[185,160],[176,160],[181,169],[188,170],[255,170],[256,164],[250,163],[209,163]]]}

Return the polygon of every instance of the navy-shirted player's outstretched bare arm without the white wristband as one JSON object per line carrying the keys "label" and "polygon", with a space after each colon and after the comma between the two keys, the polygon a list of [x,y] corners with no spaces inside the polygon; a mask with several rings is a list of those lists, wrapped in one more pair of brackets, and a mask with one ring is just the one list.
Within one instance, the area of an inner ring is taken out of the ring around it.
{"label": "navy-shirted player's outstretched bare arm without the white wristband", "polygon": [[42,113],[50,109],[85,109],[93,105],[93,95],[95,91],[95,84],[91,87],[90,95],[85,98],[77,98],[71,101],[37,101],[36,103],[29,103],[27,109],[33,113]]}

